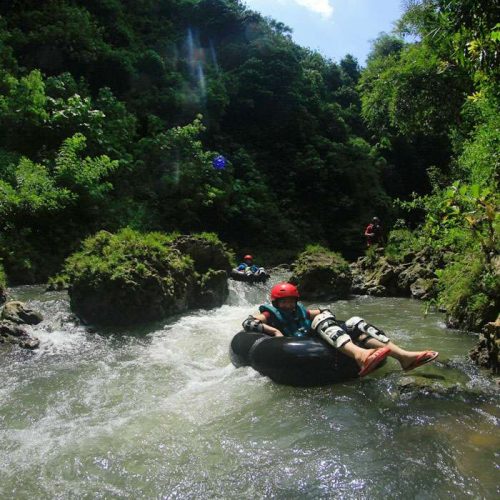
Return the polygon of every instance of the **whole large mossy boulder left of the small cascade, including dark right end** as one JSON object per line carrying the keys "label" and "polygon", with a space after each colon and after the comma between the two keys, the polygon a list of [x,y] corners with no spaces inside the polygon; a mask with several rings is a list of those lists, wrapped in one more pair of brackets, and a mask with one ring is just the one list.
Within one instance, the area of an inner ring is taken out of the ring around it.
{"label": "whole large mossy boulder left of the small cascade, including dark right end", "polygon": [[221,248],[214,235],[101,231],[66,261],[71,308],[87,323],[129,325],[219,306],[230,268]]}

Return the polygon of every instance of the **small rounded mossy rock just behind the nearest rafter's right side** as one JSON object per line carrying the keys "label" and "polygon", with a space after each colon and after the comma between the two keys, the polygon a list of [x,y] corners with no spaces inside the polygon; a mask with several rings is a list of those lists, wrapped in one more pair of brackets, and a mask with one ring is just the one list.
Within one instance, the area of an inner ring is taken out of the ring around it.
{"label": "small rounded mossy rock just behind the nearest rafter's right side", "polygon": [[290,281],[297,283],[303,299],[336,300],[349,297],[352,275],[340,254],[315,245],[298,256]]}

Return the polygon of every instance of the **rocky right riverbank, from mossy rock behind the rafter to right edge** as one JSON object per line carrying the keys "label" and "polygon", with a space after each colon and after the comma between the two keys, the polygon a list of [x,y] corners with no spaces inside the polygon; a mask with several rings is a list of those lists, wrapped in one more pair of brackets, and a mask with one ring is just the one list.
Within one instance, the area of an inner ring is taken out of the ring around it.
{"label": "rocky right riverbank, from mossy rock behind the rafter to right edge", "polygon": [[[299,284],[301,297],[306,300],[346,299],[356,294],[411,297],[432,304],[438,294],[437,273],[443,265],[443,259],[428,251],[409,253],[402,261],[394,261],[384,255],[383,249],[347,264],[340,255],[316,246],[299,255],[292,265],[291,281]],[[449,328],[459,326],[457,318],[446,310],[442,312]],[[498,375],[499,348],[500,319],[497,319],[482,328],[479,343],[470,357]]]}

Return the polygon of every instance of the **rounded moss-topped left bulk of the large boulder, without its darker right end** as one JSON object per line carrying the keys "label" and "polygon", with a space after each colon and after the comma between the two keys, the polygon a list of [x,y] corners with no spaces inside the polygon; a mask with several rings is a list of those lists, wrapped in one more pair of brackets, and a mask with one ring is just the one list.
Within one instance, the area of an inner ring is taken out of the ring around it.
{"label": "rounded moss-topped left bulk of the large boulder, without its darker right end", "polygon": [[193,261],[172,247],[175,236],[100,231],[66,260],[73,310],[95,323],[127,324],[176,311],[194,279]]}

